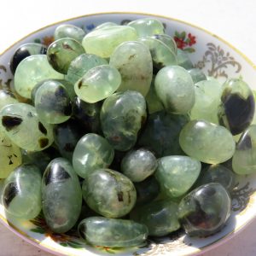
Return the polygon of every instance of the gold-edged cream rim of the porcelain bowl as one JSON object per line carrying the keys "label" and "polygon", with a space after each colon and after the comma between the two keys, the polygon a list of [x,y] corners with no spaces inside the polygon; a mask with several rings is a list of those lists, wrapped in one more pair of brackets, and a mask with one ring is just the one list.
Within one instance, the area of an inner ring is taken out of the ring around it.
{"label": "gold-edged cream rim of the porcelain bowl", "polygon": [[[32,36],[33,34],[37,33],[37,32],[41,32],[46,28],[49,28],[50,26],[55,26],[58,24],[61,24],[63,22],[68,22],[68,21],[72,21],[72,20],[77,20],[77,19],[81,19],[81,18],[85,18],[85,17],[90,17],[90,16],[95,16],[95,15],[145,15],[145,16],[152,16],[155,18],[162,18],[162,19],[166,19],[166,20],[174,20],[177,21],[179,23],[183,23],[185,25],[188,26],[192,26],[198,30],[201,30],[202,32],[206,32],[208,35],[212,36],[213,38],[217,38],[219,41],[221,41],[222,43],[228,45],[231,49],[233,49],[238,55],[241,55],[241,57],[247,61],[247,63],[253,67],[253,69],[256,72],[256,64],[253,63],[253,61],[251,61],[247,55],[244,55],[239,49],[237,49],[233,44],[230,44],[228,41],[226,41],[224,38],[220,38],[218,37],[215,33],[212,33],[210,31],[208,31],[207,29],[201,27],[201,26],[197,26],[194,25],[192,23],[189,23],[188,21],[185,20],[179,20],[177,18],[173,18],[171,16],[166,16],[166,15],[155,15],[155,14],[151,14],[151,13],[143,13],[143,12],[123,12],[123,11],[114,11],[114,12],[100,12],[100,13],[92,13],[92,14],[88,14],[88,15],[79,15],[79,16],[74,16],[72,18],[68,18],[68,19],[64,19],[64,20],[59,20],[56,22],[53,22],[47,26],[42,26],[40,27],[38,30],[32,31],[28,34],[26,34],[26,36],[24,36],[23,38],[20,38],[19,40],[15,41],[15,43],[11,44],[8,48],[4,49],[2,52],[0,52],[0,58],[9,50],[12,49],[15,44],[20,43],[21,41],[23,41],[26,38],[29,38],[30,36]],[[236,236],[237,234],[241,233],[242,230],[244,230],[248,224],[251,224],[254,221],[254,218],[249,219],[249,221],[246,224],[243,224],[241,227],[239,227],[237,230],[232,230],[230,233],[228,233],[227,235],[219,238],[216,241],[213,241],[212,243],[208,244],[205,247],[201,247],[201,248],[197,248],[197,251],[194,253],[188,253],[185,254],[184,256],[192,256],[192,255],[201,255],[202,253],[206,253],[209,252],[210,250],[212,250],[214,247],[218,247],[220,245],[223,245],[225,242],[230,241],[231,238],[233,238],[234,236]],[[38,242],[38,240],[34,239],[32,236],[27,235],[26,233],[24,233],[22,230],[18,229],[15,227],[14,224],[9,223],[7,218],[4,218],[1,214],[0,214],[0,222],[7,227],[10,231],[12,231],[16,236],[20,236],[21,239],[24,239],[25,241],[29,242],[30,244],[32,244],[33,246],[36,246],[40,249],[43,249],[45,252],[48,253],[52,253],[54,255],[64,255],[62,253],[59,253],[55,247],[51,247],[49,245],[41,245],[40,242]]]}

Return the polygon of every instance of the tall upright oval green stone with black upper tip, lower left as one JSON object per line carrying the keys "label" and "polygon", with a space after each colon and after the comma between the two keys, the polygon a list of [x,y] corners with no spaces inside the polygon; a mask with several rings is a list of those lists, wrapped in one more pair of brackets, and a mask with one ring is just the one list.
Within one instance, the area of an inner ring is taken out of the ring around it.
{"label": "tall upright oval green stone with black upper tip, lower left", "polygon": [[46,224],[55,233],[65,233],[76,224],[82,206],[79,177],[64,158],[52,160],[45,169],[42,202]]}

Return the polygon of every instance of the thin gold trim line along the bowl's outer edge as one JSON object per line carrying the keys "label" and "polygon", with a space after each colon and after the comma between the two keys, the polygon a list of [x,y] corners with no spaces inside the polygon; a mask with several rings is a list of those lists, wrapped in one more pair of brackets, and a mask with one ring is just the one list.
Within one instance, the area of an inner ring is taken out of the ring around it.
{"label": "thin gold trim line along the bowl's outer edge", "polygon": [[[188,21],[184,21],[184,20],[179,20],[179,19],[176,19],[176,18],[172,18],[172,17],[167,17],[165,15],[154,15],[154,14],[148,14],[148,13],[137,13],[137,12],[104,12],[104,13],[94,13],[94,14],[90,14],[90,15],[80,15],[80,16],[76,16],[76,17],[73,17],[73,18],[70,18],[70,19],[66,19],[66,20],[61,20],[61,21],[57,21],[57,22],[54,22],[52,24],[49,24],[47,26],[43,26],[41,28],[39,28],[38,30],[35,30],[29,34],[27,34],[25,37],[23,38],[20,38],[20,40],[16,41],[14,44],[11,44],[7,49],[3,50],[2,53],[0,53],[0,57],[2,55],[4,55],[9,49],[13,48],[15,46],[15,44],[18,44],[20,43],[22,40],[32,36],[34,33],[37,33],[37,32],[41,32],[43,31],[44,29],[46,28],[49,28],[50,26],[55,26],[55,25],[58,25],[58,24],[61,24],[63,22],[66,22],[66,21],[71,21],[71,20],[77,20],[77,19],[81,19],[81,18],[85,18],[85,17],[90,17],[90,16],[96,16],[96,15],[148,15],[148,16],[153,16],[153,17],[159,17],[159,18],[163,18],[163,19],[166,19],[166,20],[174,20],[174,21],[177,21],[177,22],[180,22],[180,23],[183,23],[185,25],[188,25],[188,26],[192,26],[192,27],[195,27],[196,29],[198,30],[201,30],[203,32],[206,32],[208,35],[212,36],[213,38],[217,38],[219,41],[221,41],[222,43],[230,46],[231,49],[233,49],[234,51],[236,51],[236,53],[238,55],[241,55],[241,57],[243,59],[245,59],[245,61],[247,61],[247,63],[253,67],[253,69],[255,69],[256,71],[256,65],[253,63],[253,61],[251,61],[247,55],[244,55],[239,49],[236,49],[236,47],[232,44],[230,44],[229,42],[227,42],[226,40],[224,40],[223,38],[220,38],[218,37],[216,34],[212,33],[212,32],[209,32],[207,29],[205,28],[202,28],[201,26],[196,26],[194,24],[191,24],[189,23]],[[256,196],[256,192],[253,193],[253,195],[251,196]],[[246,209],[243,211],[245,212]],[[19,232],[22,236],[25,236],[26,238],[28,238],[29,240],[33,241],[35,244],[35,246],[39,245],[41,247],[45,247],[49,250],[52,251],[52,253],[60,253],[56,250],[55,247],[50,247],[49,245],[46,245],[46,244],[41,244],[40,241],[34,239],[33,237],[31,236],[28,236],[24,231],[22,230],[19,230],[17,227],[15,227],[14,224],[11,224],[6,218],[3,217],[3,215],[0,214],[0,219],[3,221],[4,224],[7,224],[7,227],[10,227],[11,229]],[[230,233],[222,236],[221,238],[219,238],[218,240],[216,241],[212,241],[210,244],[207,244],[205,247],[201,247],[201,248],[195,248],[195,252],[193,253],[188,253],[188,254],[184,254],[184,256],[189,256],[189,255],[195,255],[195,253],[199,253],[201,252],[201,249],[205,249],[207,248],[207,250],[210,250],[211,247],[213,247],[214,244],[216,244],[218,241],[224,239],[225,241],[229,241],[231,239],[231,237],[237,233],[238,231],[240,232],[241,230],[243,230],[247,224],[250,224],[251,222],[253,221],[253,218],[249,219],[247,221],[247,223],[245,224],[242,224],[241,226],[237,227],[235,230],[232,230],[230,231]],[[16,234],[15,234],[16,235]],[[227,239],[228,238],[228,239]],[[84,249],[86,250],[86,248],[84,247]],[[61,252],[62,253],[62,252]],[[65,253],[66,254],[66,253]],[[68,255],[68,254],[66,254]]]}

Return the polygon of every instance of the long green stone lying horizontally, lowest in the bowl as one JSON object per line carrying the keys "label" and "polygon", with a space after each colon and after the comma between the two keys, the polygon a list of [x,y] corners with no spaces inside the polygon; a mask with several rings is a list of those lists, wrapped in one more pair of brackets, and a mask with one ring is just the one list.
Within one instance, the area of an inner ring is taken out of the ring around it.
{"label": "long green stone lying horizontally, lowest in the bowl", "polygon": [[130,219],[90,217],[80,222],[79,235],[94,246],[135,247],[147,239],[148,229]]}

